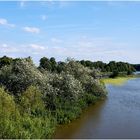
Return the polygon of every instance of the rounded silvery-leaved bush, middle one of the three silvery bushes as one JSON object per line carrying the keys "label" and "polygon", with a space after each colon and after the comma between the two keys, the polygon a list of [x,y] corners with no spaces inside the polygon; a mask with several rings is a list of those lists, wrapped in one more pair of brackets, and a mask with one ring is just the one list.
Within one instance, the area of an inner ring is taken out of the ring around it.
{"label": "rounded silvery-leaved bush, middle one of the three silvery bushes", "polygon": [[57,96],[65,100],[77,100],[83,94],[80,81],[64,72],[55,74],[50,84],[56,89]]}

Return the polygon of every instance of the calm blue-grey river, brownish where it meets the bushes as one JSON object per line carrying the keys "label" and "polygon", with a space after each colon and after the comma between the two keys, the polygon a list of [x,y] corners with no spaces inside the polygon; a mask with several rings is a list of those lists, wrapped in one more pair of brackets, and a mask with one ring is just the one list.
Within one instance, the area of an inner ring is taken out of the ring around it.
{"label": "calm blue-grey river, brownish where it meets the bushes", "polygon": [[54,138],[140,138],[140,78],[106,87],[106,99],[87,108],[79,119],[59,126]]}

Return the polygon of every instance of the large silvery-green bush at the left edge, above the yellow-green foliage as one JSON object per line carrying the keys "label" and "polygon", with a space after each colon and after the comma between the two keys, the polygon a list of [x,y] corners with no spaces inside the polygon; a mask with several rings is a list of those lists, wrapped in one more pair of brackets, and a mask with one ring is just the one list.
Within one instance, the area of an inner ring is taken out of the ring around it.
{"label": "large silvery-green bush at the left edge, above the yellow-green foliage", "polygon": [[0,70],[0,84],[15,95],[31,85],[43,86],[44,75],[28,59],[20,59]]}

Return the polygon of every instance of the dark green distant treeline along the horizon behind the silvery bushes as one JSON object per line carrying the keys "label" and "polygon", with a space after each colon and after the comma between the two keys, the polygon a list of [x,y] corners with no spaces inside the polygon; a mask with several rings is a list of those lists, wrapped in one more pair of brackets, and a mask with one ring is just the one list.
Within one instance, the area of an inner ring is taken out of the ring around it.
{"label": "dark green distant treeline along the horizon behind the silvery bushes", "polygon": [[[29,57],[30,58],[30,57]],[[0,68],[4,65],[9,65],[13,61],[18,60],[18,58],[13,59],[10,57],[1,57],[0,58]],[[140,71],[140,64],[132,65],[126,62],[115,62],[110,61],[109,63],[104,63],[102,61],[92,62],[89,60],[81,60],[76,61],[80,64],[82,64],[84,67],[88,67],[90,69],[98,69],[101,72],[127,72],[128,74],[131,74],[134,71]],[[51,72],[62,72],[65,69],[66,62],[56,62],[54,57],[51,57],[50,59],[47,57],[43,57],[40,59],[40,69],[46,69]]]}

